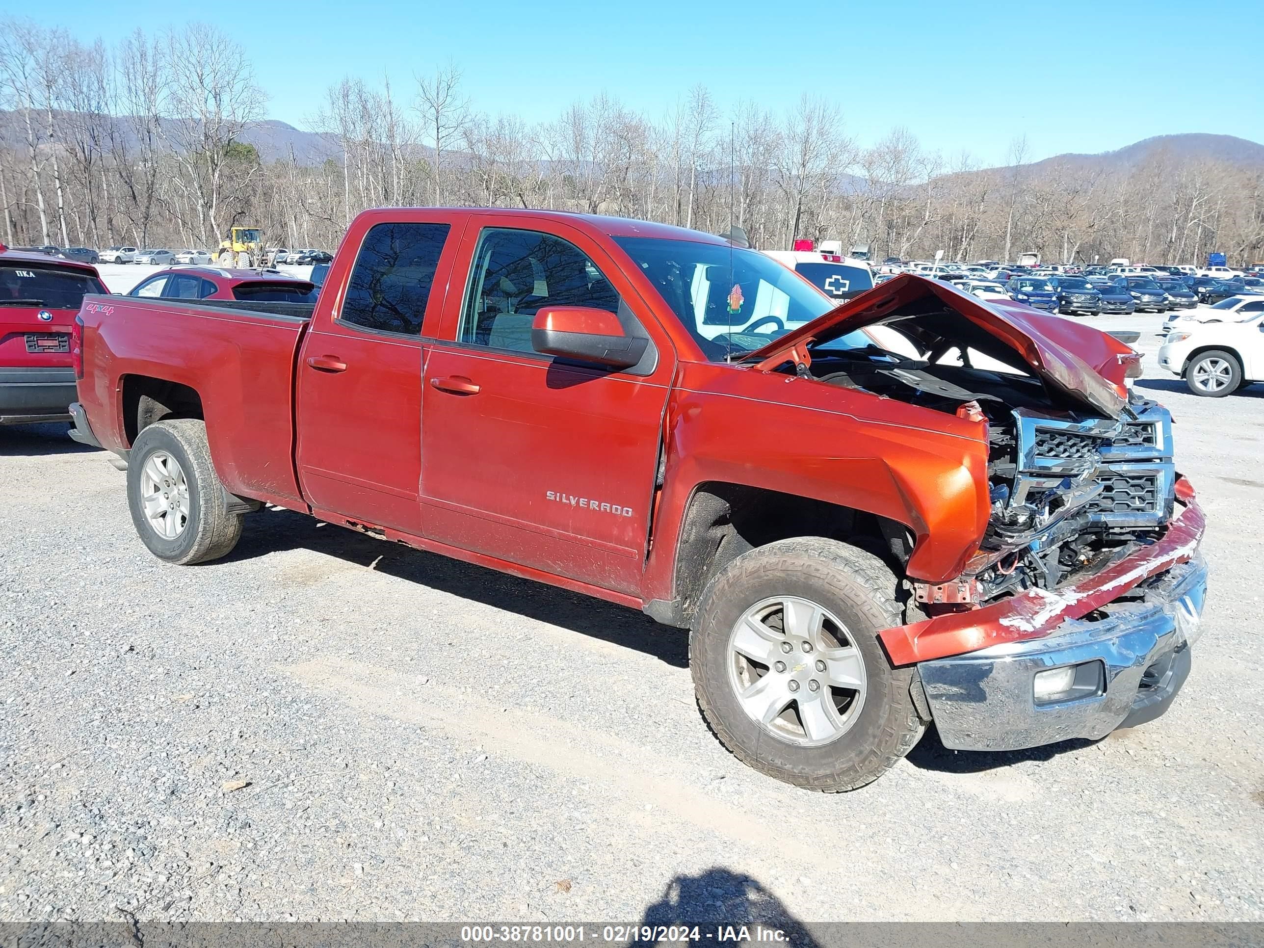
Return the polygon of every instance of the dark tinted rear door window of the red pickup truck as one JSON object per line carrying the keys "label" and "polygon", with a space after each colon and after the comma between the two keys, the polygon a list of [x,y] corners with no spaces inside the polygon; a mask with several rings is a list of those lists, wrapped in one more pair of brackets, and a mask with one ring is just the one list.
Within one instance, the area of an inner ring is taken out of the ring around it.
{"label": "dark tinted rear door window of the red pickup truck", "polygon": [[339,319],[420,336],[447,231],[447,224],[374,225],[355,258]]}

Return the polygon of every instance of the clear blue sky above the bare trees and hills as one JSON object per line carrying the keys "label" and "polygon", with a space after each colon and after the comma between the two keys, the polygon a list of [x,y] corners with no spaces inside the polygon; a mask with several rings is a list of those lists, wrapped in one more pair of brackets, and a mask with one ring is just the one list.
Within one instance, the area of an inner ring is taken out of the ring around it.
{"label": "clear blue sky above the bare trees and hills", "polygon": [[[112,42],[187,19],[246,48],[268,116],[301,128],[344,75],[410,90],[454,61],[473,105],[528,121],[607,92],[651,118],[694,83],[728,109],[784,111],[804,91],[836,99],[848,134],[905,125],[945,157],[1004,163],[1025,134],[1031,159],[1102,152],[1150,135],[1210,131],[1264,142],[1259,0],[1153,3],[207,3],[59,0],[0,9]],[[142,10],[145,13],[143,14]],[[1202,52],[1206,48],[1207,52]]]}

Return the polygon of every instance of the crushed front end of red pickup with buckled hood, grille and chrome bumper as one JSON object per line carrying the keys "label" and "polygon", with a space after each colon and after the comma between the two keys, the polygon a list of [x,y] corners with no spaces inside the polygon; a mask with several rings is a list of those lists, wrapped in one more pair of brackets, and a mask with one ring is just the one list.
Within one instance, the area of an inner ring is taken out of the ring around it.
{"label": "crushed front end of red pickup with buckled hood, grille and chrome bumper", "polygon": [[1173,464],[1170,415],[1125,387],[1126,345],[897,277],[751,359],[986,437],[977,550],[952,580],[910,576],[927,618],[880,633],[894,665],[916,665],[945,746],[1100,738],[1168,707],[1200,629],[1205,521]]}

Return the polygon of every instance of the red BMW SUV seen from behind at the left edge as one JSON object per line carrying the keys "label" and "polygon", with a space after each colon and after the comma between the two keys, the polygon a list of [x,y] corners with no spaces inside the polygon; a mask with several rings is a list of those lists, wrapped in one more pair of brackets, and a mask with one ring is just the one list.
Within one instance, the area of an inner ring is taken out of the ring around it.
{"label": "red BMW SUV seen from behind at the left edge", "polygon": [[0,244],[0,425],[70,420],[71,327],[106,292],[96,267]]}

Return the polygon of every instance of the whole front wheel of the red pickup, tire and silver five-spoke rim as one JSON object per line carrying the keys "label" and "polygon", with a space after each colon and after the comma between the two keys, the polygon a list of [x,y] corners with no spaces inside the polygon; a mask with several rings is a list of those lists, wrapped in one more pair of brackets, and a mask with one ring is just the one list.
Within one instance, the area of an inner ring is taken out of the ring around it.
{"label": "whole front wheel of the red pickup, tire and silver five-spoke rim", "polygon": [[872,554],[823,537],[751,550],[708,588],[690,636],[698,704],[720,742],[809,790],[877,780],[921,736],[911,669],[877,633],[901,623]]}

